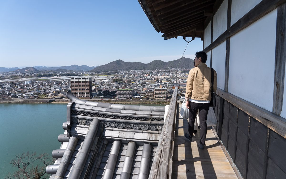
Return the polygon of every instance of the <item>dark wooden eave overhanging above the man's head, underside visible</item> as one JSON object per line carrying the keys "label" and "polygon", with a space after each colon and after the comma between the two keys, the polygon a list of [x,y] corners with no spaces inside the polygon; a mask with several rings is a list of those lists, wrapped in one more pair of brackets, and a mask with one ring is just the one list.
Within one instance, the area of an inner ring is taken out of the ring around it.
{"label": "dark wooden eave overhanging above the man's head, underside visible", "polygon": [[[216,0],[138,0],[151,24],[164,39],[202,38]],[[216,3],[217,4],[217,3]],[[220,4],[220,3],[219,3]],[[209,18],[208,18],[209,17]]]}

